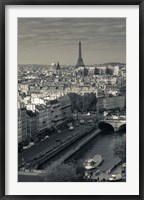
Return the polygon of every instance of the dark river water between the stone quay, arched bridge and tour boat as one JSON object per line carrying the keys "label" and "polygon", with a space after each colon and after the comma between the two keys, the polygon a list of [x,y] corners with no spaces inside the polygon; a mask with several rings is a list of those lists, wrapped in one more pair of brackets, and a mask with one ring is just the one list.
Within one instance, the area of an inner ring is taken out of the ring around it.
{"label": "dark river water between the stone quay, arched bridge and tour boat", "polygon": [[119,161],[113,154],[113,142],[117,137],[119,136],[115,133],[108,133],[107,135],[99,134],[66,162],[76,163],[76,165],[82,166],[86,159],[91,158],[96,154],[100,154],[104,159],[100,168],[102,170],[108,170],[112,165]]}

